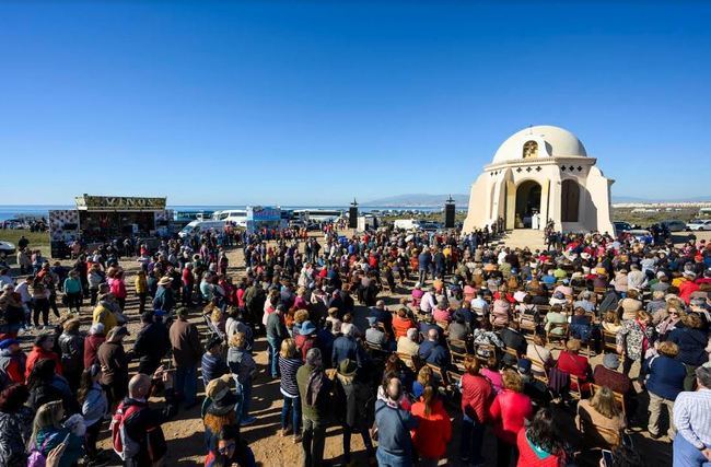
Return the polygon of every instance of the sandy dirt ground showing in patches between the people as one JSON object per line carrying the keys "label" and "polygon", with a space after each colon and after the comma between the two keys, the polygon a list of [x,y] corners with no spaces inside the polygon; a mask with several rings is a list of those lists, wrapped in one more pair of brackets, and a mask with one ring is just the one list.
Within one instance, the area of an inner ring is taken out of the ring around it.
{"label": "sandy dirt ground showing in patches between the people", "polygon": [[[708,237],[708,233],[702,233],[699,237]],[[680,240],[680,238],[679,238]],[[234,276],[235,279],[245,273],[243,264],[242,249],[233,248],[229,250],[230,258],[229,273]],[[140,319],[138,316],[138,300],[133,294],[133,275],[138,269],[138,264],[135,258],[124,258],[121,266],[127,270],[127,287],[129,288],[129,299],[127,300],[127,316],[129,317],[128,328],[131,336],[126,338],[127,349],[132,347],[133,340],[138,330],[140,329]],[[408,282],[407,290],[401,290],[404,294],[409,294],[413,281]],[[383,299],[388,305],[397,303],[401,294],[384,293]],[[362,329],[365,328],[366,310],[364,306],[357,306],[356,308],[356,324]],[[85,331],[91,324],[91,308],[85,304],[82,308],[82,330]],[[190,315],[190,320],[198,324],[201,337],[205,338],[205,326],[199,310],[195,310]],[[28,350],[35,332],[25,334],[22,336],[23,347]],[[255,360],[257,362],[258,372],[255,377],[253,388],[252,415],[257,418],[257,422],[250,427],[242,429],[243,436],[249,443],[254,451],[255,457],[259,465],[263,466],[294,466],[301,464],[301,446],[293,444],[292,437],[281,437],[280,431],[280,413],[282,396],[279,392],[279,382],[271,381],[267,371],[267,352],[266,341],[259,338],[255,342]],[[592,359],[593,366],[602,361],[602,357]],[[136,365],[131,366],[131,372],[136,371]],[[633,369],[633,372],[637,370]],[[201,381],[198,384],[198,392],[203,394],[205,387]],[[156,401],[160,404],[160,401]],[[642,399],[640,404],[640,420],[642,425],[646,422],[646,406],[648,399]],[[178,415],[168,423],[163,425],[163,431],[167,440],[168,454],[166,464],[172,465],[198,465],[202,464],[205,459],[203,447],[203,429],[200,420],[200,408],[195,407],[191,410],[180,410]],[[440,465],[459,465],[456,453],[458,452],[458,428],[459,416],[455,411],[451,411],[453,417],[453,440],[450,443],[448,459],[444,459]],[[563,422],[564,423],[564,422]],[[664,431],[663,431],[664,432]],[[331,427],[327,431],[325,460],[333,464],[341,464],[342,455],[342,437],[341,429],[339,427]],[[110,450],[108,440],[108,427],[106,425],[101,436],[101,447]],[[666,466],[672,464],[671,459],[671,444],[667,439],[663,437],[658,441],[649,439],[646,432],[640,432],[639,429],[632,430],[632,440],[636,447],[645,457],[648,465]],[[353,436],[351,440],[352,465],[368,465],[365,450],[360,436]],[[488,459],[487,465],[492,465],[496,460],[496,441],[490,432],[487,432],[485,439],[485,456]],[[599,457],[597,457],[599,458]],[[590,458],[583,462],[582,465],[596,465],[597,458]],[[652,460],[654,459],[654,460]],[[118,458],[107,465],[120,465]]]}

